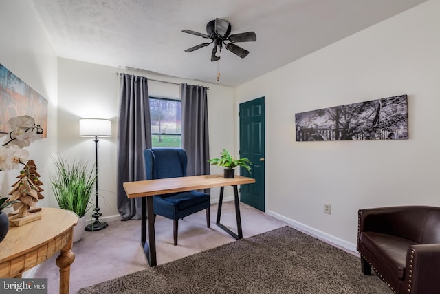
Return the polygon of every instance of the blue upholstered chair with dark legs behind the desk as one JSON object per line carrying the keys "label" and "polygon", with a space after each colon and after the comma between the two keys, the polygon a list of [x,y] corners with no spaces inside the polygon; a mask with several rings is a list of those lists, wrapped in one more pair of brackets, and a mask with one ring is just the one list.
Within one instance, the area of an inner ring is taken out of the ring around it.
{"label": "blue upholstered chair with dark legs behind the desk", "polygon": [[[186,152],[179,148],[144,149],[146,180],[186,176]],[[177,245],[179,219],[206,209],[206,225],[210,227],[210,195],[186,191],[153,196],[155,216],[173,220],[174,245]]]}

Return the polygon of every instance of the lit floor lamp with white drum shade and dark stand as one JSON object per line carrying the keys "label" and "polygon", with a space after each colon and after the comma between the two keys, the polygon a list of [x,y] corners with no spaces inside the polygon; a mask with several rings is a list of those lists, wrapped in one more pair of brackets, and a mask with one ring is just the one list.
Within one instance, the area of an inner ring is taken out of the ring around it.
{"label": "lit floor lamp with white drum shade and dark stand", "polygon": [[98,206],[98,137],[111,136],[111,120],[100,118],[81,118],[80,119],[80,136],[94,137],[95,141],[95,175],[96,175],[96,206],[94,208],[95,222],[85,227],[86,231],[100,231],[109,226],[107,222],[100,222],[99,217],[102,216]]}

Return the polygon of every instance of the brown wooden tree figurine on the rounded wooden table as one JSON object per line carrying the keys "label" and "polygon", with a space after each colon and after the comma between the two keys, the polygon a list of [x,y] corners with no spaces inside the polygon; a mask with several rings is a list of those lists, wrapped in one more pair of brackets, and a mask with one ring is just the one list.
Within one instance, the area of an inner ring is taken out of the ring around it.
{"label": "brown wooden tree figurine on the rounded wooden table", "polygon": [[[41,191],[43,191],[43,189],[40,187],[43,185],[43,182],[39,180],[40,174],[36,171],[36,169],[37,168],[34,160],[29,160],[25,165],[25,168],[21,171],[20,175],[17,176],[19,180],[12,185],[14,189],[12,189],[12,191],[9,193],[11,195],[10,201],[20,201],[12,205],[14,210],[19,211],[18,216],[15,216],[16,220],[17,218],[29,217],[30,207],[36,207],[36,202],[38,202],[39,199],[44,198],[44,196],[41,195]],[[33,215],[32,218],[28,218],[27,221],[21,224],[38,220],[39,218],[41,218],[41,215]]]}

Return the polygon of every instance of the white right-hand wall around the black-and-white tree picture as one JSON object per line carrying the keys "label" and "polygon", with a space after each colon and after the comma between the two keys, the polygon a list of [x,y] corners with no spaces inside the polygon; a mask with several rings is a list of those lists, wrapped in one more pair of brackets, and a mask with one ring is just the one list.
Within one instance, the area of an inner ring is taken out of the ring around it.
{"label": "white right-hand wall around the black-and-white tree picture", "polygon": [[[358,209],[440,206],[439,11],[428,1],[236,88],[237,105],[265,96],[268,213],[355,251]],[[400,94],[409,140],[295,140],[295,113]]]}

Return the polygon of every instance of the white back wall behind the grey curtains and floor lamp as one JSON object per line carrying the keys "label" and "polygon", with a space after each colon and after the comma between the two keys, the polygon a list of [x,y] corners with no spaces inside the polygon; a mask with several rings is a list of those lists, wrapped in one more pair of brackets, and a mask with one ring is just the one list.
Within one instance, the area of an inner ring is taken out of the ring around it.
{"label": "white back wall behind the grey curtains and floor lamp", "polygon": [[[235,105],[234,88],[232,87],[159,76],[142,71],[122,70],[118,67],[96,65],[71,59],[59,59],[58,65],[59,153],[66,158],[89,160],[93,165],[95,160],[94,142],[90,138],[79,136],[78,119],[83,117],[107,118],[113,122],[113,136],[102,138],[98,149],[100,174],[98,181],[100,198],[98,201],[104,220],[118,218],[115,193],[119,109],[119,76],[116,75],[117,72],[126,72],[173,83],[208,86],[210,88],[208,91],[210,154],[217,156],[223,147],[234,149],[234,120],[225,119],[225,116],[229,117],[232,114]],[[180,98],[179,85],[148,81],[148,91],[151,96]],[[221,172],[219,169],[212,167],[212,173],[219,172]],[[215,202],[218,197],[219,189],[212,189],[212,201]]]}

